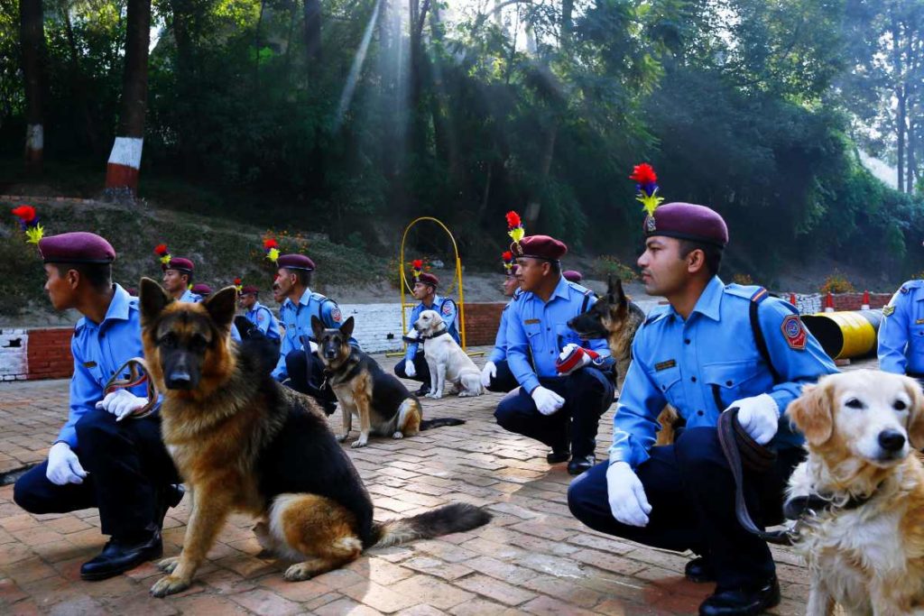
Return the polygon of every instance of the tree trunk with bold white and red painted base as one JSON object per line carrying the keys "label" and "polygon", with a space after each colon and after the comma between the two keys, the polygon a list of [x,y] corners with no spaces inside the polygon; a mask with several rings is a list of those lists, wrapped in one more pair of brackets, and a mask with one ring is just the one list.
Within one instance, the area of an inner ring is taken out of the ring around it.
{"label": "tree trunk with bold white and red painted base", "polygon": [[106,169],[106,189],[128,188],[138,193],[144,116],[148,108],[148,45],[151,31],[151,0],[128,0],[125,43],[125,79],[122,84],[122,115]]}

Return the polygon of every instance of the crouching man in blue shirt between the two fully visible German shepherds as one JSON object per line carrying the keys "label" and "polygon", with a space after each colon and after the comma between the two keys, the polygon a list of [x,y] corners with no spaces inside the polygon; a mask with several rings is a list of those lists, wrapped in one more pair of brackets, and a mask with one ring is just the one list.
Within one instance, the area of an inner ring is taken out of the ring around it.
{"label": "crouching man in blue shirt between the two fully visible German shepherds", "polygon": [[[285,381],[297,392],[309,394],[331,415],[336,409],[336,397],[324,379],[324,366],[317,354],[318,344],[311,330],[311,317],[322,320],[327,328],[339,329],[343,316],[333,299],[311,291],[314,261],[304,255],[282,255],[276,260],[276,266],[274,296],[279,299],[285,297],[279,308],[279,318],[286,333],[273,377],[280,382]],[[359,343],[352,338],[350,344],[359,348]]]}

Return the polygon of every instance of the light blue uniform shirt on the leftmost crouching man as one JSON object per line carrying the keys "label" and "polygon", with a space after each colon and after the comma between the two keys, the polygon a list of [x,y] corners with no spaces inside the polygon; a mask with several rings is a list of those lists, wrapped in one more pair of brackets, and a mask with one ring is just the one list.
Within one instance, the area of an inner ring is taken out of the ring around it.
{"label": "light blue uniform shirt on the leftmost crouching man", "polygon": [[[103,387],[116,370],[132,357],[144,356],[141,345],[141,320],[138,297],[118,284],[103,322],[96,324],[86,317],[77,321],[70,352],[74,356],[74,375],[70,378],[70,412],[67,423],[58,432],[57,441],[65,441],[71,449],[77,447],[77,422],[103,400]],[[128,378],[127,373],[122,374]],[[137,396],[147,395],[142,383],[131,390]]]}

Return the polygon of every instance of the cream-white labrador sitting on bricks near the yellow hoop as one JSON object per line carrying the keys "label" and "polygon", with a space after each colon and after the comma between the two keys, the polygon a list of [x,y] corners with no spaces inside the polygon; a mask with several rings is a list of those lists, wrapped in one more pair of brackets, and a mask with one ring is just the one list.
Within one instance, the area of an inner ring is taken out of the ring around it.
{"label": "cream-white labrador sitting on bricks near the yellow hoop", "polygon": [[428,398],[442,398],[447,382],[453,384],[453,392],[458,392],[460,398],[484,393],[481,371],[446,331],[439,312],[421,312],[414,323],[414,333],[418,340],[423,341],[423,354],[430,367]]}

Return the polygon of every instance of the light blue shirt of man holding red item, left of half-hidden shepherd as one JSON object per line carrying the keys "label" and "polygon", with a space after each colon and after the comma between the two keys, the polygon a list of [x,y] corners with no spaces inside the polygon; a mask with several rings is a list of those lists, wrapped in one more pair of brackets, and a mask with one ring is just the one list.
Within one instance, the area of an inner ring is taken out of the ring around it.
{"label": "light blue shirt of man holding red item, left of half-hidden shepherd", "polygon": [[[507,317],[507,366],[527,393],[539,387],[539,379],[557,377],[555,360],[565,344],[574,343],[610,356],[610,347],[602,338],[582,341],[568,321],[593,306],[597,298],[586,287],[559,278],[548,302],[524,291],[510,304]],[[532,352],[529,363],[527,349]]]}

